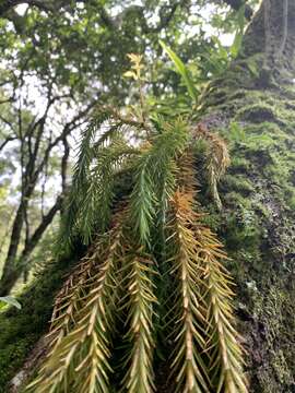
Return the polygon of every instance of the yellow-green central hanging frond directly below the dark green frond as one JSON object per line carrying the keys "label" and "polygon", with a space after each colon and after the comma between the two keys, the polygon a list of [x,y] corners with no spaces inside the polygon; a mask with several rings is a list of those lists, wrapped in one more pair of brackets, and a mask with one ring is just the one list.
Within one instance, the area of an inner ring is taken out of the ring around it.
{"label": "yellow-green central hanging frond directly below the dark green frond", "polygon": [[130,393],[151,393],[155,390],[152,361],[153,317],[157,300],[153,293],[153,263],[151,255],[144,255],[142,252],[131,254],[128,263],[129,301],[126,307],[130,329],[126,337],[132,344],[132,349],[122,384]]}

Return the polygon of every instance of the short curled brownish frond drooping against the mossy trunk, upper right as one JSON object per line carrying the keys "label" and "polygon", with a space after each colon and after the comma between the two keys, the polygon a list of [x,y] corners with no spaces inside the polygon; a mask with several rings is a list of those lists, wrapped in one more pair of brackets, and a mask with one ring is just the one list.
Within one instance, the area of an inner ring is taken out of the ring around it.
{"label": "short curled brownish frond drooping against the mossy trunk, upper right", "polygon": [[209,151],[205,156],[208,182],[212,199],[217,209],[221,210],[222,202],[217,191],[217,183],[231,163],[227,145],[217,133],[210,132],[202,123],[199,123],[197,129],[193,130],[193,136],[203,139],[209,144]]}

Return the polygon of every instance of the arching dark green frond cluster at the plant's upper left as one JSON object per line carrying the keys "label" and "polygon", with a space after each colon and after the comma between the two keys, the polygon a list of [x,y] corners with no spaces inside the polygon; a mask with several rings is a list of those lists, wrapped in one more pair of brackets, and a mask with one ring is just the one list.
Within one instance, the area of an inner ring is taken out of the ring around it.
{"label": "arching dark green frond cluster at the plant's upper left", "polygon": [[[88,245],[95,228],[104,231],[110,218],[116,172],[121,170],[128,158],[137,154],[122,136],[125,123],[114,122],[114,110],[106,108],[84,131],[80,155],[73,174],[68,214],[63,216],[59,243],[71,246],[73,235],[80,235]],[[95,135],[107,129],[97,142]]]}

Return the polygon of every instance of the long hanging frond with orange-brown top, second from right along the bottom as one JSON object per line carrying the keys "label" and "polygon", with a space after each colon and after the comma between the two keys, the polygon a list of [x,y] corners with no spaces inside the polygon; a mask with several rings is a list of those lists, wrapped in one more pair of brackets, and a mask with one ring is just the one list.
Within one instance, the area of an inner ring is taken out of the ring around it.
{"label": "long hanging frond with orange-brown top, second from right along the bottom", "polygon": [[194,222],[193,193],[177,191],[172,201],[170,241],[173,273],[178,277],[178,315],[173,373],[176,392],[210,392],[210,376],[201,355],[206,346],[203,267],[198,259],[198,242],[191,227]]}

